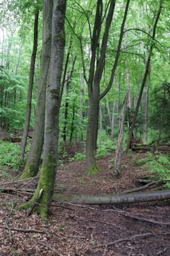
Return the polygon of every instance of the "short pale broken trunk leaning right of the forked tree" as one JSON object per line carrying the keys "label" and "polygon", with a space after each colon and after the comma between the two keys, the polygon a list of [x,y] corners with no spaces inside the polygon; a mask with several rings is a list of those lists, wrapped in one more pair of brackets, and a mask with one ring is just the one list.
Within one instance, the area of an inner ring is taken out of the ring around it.
{"label": "short pale broken trunk leaning right of the forked tree", "polygon": [[125,95],[125,99],[123,100],[123,107],[121,109],[120,116],[120,129],[118,134],[118,147],[116,148],[116,157],[115,157],[115,166],[114,166],[114,174],[116,176],[120,175],[121,170],[121,150],[123,146],[123,127],[125,122],[125,110],[128,99],[128,92]]}

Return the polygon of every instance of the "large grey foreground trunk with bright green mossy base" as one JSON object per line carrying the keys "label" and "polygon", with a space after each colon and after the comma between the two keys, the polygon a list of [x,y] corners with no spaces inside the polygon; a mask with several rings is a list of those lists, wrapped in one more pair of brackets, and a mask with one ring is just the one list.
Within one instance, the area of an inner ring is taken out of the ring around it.
{"label": "large grey foreground trunk with bright green mossy base", "polygon": [[56,167],[58,156],[58,132],[59,132],[59,95],[61,87],[61,74],[65,49],[65,9],[66,0],[54,0],[52,13],[52,46],[50,55],[49,83],[46,92],[45,108],[45,138],[43,163],[33,198],[22,205],[22,209],[30,207],[40,191],[43,189],[39,204],[34,211],[47,218],[48,209],[54,191],[56,180]]}

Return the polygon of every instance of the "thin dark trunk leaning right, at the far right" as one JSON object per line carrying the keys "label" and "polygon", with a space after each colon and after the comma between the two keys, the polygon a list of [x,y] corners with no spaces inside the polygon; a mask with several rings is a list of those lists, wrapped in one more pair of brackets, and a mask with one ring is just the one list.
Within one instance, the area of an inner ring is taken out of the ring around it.
{"label": "thin dark trunk leaning right, at the far right", "polygon": [[160,4],[159,4],[159,9],[158,9],[157,17],[156,17],[156,19],[155,19],[155,24],[154,24],[154,26],[153,26],[153,34],[152,34],[152,36],[151,36],[151,46],[150,46],[150,51],[149,51],[149,55],[148,55],[148,61],[147,61],[147,63],[146,63],[146,70],[145,70],[145,73],[144,73],[143,83],[142,83],[142,85],[141,85],[141,91],[140,91],[140,93],[139,93],[139,98],[138,98],[138,100],[137,100],[137,106],[136,106],[136,108],[135,108],[134,120],[133,120],[133,122],[132,122],[132,126],[130,127],[130,131],[129,131],[129,134],[128,134],[128,141],[127,141],[126,152],[128,152],[128,148],[130,147],[130,141],[131,141],[131,138],[132,138],[132,134],[133,134],[134,127],[135,127],[135,122],[136,122],[136,119],[137,119],[137,113],[138,113],[139,106],[140,106],[140,103],[141,103],[141,98],[142,98],[142,96],[143,96],[144,85],[145,85],[145,83],[146,83],[146,79],[147,79],[148,73],[149,73],[150,61],[151,61],[151,54],[152,54],[152,51],[153,51],[154,40],[155,40],[155,34],[156,34],[156,29],[157,29],[157,23],[158,23],[158,19],[159,19],[161,10],[162,10],[162,0],[160,0]]}

